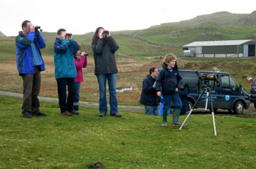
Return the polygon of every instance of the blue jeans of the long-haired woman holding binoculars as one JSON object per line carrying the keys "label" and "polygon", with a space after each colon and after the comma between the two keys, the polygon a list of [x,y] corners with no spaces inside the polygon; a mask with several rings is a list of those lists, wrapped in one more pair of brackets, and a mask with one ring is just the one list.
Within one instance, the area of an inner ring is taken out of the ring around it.
{"label": "blue jeans of the long-haired woman holding binoculars", "polygon": [[106,98],[106,80],[108,79],[110,114],[117,114],[118,106],[116,99],[116,74],[97,74],[97,79],[99,83],[99,113],[108,113],[108,105]]}

